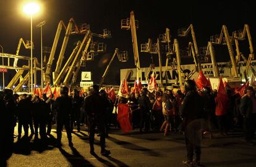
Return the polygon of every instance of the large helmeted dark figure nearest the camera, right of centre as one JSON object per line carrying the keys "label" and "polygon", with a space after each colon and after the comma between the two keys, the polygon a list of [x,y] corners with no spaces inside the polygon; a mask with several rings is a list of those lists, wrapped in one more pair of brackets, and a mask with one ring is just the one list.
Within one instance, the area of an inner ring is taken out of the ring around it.
{"label": "large helmeted dark figure nearest the camera, right of centre", "polygon": [[185,83],[186,97],[179,108],[179,114],[184,121],[185,139],[187,147],[187,160],[182,161],[184,165],[193,166],[194,152],[196,158],[194,163],[200,165],[203,124],[203,99],[196,91],[195,81],[189,79]]}

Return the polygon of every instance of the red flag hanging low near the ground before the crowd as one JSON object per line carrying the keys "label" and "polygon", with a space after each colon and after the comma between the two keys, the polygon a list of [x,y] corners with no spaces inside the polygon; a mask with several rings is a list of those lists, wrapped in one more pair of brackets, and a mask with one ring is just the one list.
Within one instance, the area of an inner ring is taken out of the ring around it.
{"label": "red flag hanging low near the ground before the crowd", "polygon": [[122,131],[129,132],[132,130],[129,119],[129,104],[118,104],[117,121],[119,122]]}

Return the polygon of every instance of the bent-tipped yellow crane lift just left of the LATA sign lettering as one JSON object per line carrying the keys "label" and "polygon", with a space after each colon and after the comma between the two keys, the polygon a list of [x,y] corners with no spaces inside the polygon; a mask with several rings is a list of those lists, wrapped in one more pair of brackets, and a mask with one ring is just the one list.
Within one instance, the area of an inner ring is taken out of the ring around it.
{"label": "bent-tipped yellow crane lift just left of the LATA sign lettering", "polygon": [[187,30],[185,28],[181,28],[178,30],[178,36],[184,37],[189,35],[189,32],[191,32],[192,35],[192,40],[193,43],[189,45],[189,48],[194,51],[193,58],[194,58],[194,63],[195,63],[195,69],[197,71],[202,70],[201,68],[201,63],[200,63],[200,55],[197,47],[197,39],[195,38],[195,31],[194,31],[194,26],[192,24],[189,25],[189,28]]}

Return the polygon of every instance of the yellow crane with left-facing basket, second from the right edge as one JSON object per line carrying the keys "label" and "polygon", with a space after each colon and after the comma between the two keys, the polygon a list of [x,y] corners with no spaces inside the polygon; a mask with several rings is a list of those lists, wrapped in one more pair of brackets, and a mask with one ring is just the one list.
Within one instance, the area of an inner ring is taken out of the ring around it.
{"label": "yellow crane with left-facing basket, second from the right edge", "polygon": [[231,59],[231,75],[234,78],[238,77],[236,70],[236,60],[234,59],[234,51],[232,47],[233,36],[229,36],[228,28],[226,25],[222,26],[220,35],[211,36],[210,41],[212,44],[226,44],[228,47],[229,57]]}

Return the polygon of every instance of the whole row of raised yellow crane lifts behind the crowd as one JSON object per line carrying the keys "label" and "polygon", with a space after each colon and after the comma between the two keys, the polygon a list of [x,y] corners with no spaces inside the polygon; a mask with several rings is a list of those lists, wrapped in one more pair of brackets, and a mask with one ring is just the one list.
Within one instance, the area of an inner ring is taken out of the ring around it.
{"label": "whole row of raised yellow crane lifts behind the crowd", "polygon": [[[121,29],[123,30],[130,30],[131,36],[132,36],[132,46],[134,51],[134,64],[137,69],[137,80],[141,79],[141,68],[140,68],[140,59],[139,59],[139,47],[137,43],[137,28],[139,28],[138,20],[135,20],[134,12],[130,12],[130,17],[126,18],[124,20],[121,20]],[[61,51],[59,52],[58,60],[56,62],[56,68],[54,71],[52,71],[53,66],[53,60],[54,57],[56,57],[56,48],[58,46],[59,41],[61,41],[60,35],[61,31],[64,30],[65,36],[62,40],[62,46]],[[64,55],[66,53],[66,47],[69,41],[70,35],[81,35],[83,36],[82,41],[77,41],[72,53],[69,55],[68,59],[64,63]],[[215,35],[210,37],[210,41],[207,43],[207,47],[203,47],[202,51],[200,52],[200,48],[198,49],[197,46],[197,39],[195,35],[194,26],[192,24],[189,25],[188,28],[181,28],[178,30],[178,37],[184,37],[184,36],[192,36],[192,41],[189,41],[188,47],[187,47],[187,55],[192,56],[194,60],[195,69],[191,71],[189,75],[184,76],[184,73],[181,68],[181,49],[179,48],[179,40],[171,39],[171,33],[169,28],[166,28],[166,31],[159,35],[157,38],[156,43],[153,43],[153,41],[149,38],[148,42],[145,44],[140,45],[140,52],[147,52],[150,54],[157,54],[158,55],[158,62],[159,62],[159,68],[160,68],[160,88],[164,87],[163,79],[165,79],[166,86],[168,85],[168,78],[167,78],[167,71],[169,70],[177,70],[178,73],[178,81],[179,86],[183,87],[183,82],[185,79],[189,79],[195,72],[198,72],[202,70],[201,63],[205,62],[205,60],[211,62],[213,65],[213,76],[218,77],[219,69],[218,64],[216,62],[216,56],[215,56],[215,49],[214,44],[223,44],[226,45],[229,51],[229,57],[231,60],[231,77],[233,78],[240,78],[241,74],[237,73],[237,66],[239,67],[239,61],[242,60],[246,63],[245,71],[244,71],[244,78],[248,79],[247,71],[249,67],[252,69],[254,75],[256,75],[256,72],[254,68],[250,65],[251,61],[254,59],[254,48],[252,44],[252,37],[250,35],[250,30],[248,25],[244,25],[243,30],[233,31],[232,35],[229,36],[228,28],[226,25],[223,25],[221,28],[220,35]],[[90,25],[87,25],[86,23],[83,23],[82,25],[78,26],[73,18],[70,18],[68,25],[66,26],[64,22],[61,20],[58,24],[58,28],[56,31],[56,35],[54,37],[53,46],[51,47],[51,51],[49,54],[48,62],[45,65],[44,73],[43,73],[43,81],[45,84],[47,83],[53,83],[54,86],[74,86],[77,77],[79,75],[79,70],[81,67],[85,67],[85,62],[93,60],[93,57],[96,54],[99,54],[101,52],[106,51],[106,44],[105,43],[98,43],[93,41],[93,37],[98,38],[111,38],[111,33],[109,30],[104,29],[103,34],[96,34],[93,33],[92,30],[90,30]],[[246,59],[245,55],[242,54],[242,52],[239,49],[239,41],[248,39],[249,41],[249,49],[250,54],[248,56],[248,59]],[[33,44],[30,41],[24,41],[22,38],[19,41],[17,52],[15,56],[12,56],[14,58],[14,67],[12,69],[16,70],[16,75],[14,78],[12,78],[12,81],[8,84],[7,88],[13,88],[15,84],[17,86],[15,87],[14,91],[20,91],[23,84],[28,83],[30,84],[30,72],[28,71],[27,75],[22,77],[24,70],[29,70],[30,63],[33,63],[33,75],[34,75],[34,83],[36,83],[36,70],[40,70],[38,65],[37,59],[34,58],[33,62],[30,62],[28,60],[28,65],[23,65],[22,67],[17,67],[17,62],[19,59],[26,59],[22,56],[19,56],[20,47],[25,47],[25,49],[33,49]],[[236,56],[234,55],[233,46],[236,47]],[[109,61],[108,66],[106,67],[105,73],[100,79],[100,86],[104,83],[105,77],[108,73],[109,67],[111,63],[113,62],[114,57],[118,57],[118,60],[120,62],[127,62],[128,60],[128,54],[126,51],[121,52],[117,48],[114,51],[113,56],[111,57],[111,60]],[[4,56],[4,55],[2,55]],[[162,68],[162,58],[163,56],[166,59],[166,65],[163,70]],[[8,58],[9,59],[9,58]],[[62,65],[64,63],[64,65]],[[155,67],[155,64],[151,63],[150,67],[148,68],[147,72],[147,79],[150,78],[150,71]],[[163,72],[164,71],[164,72]],[[164,77],[162,76],[164,75]],[[52,77],[51,77],[52,76]],[[71,79],[72,78],[72,79]],[[121,78],[122,79],[122,78]]]}

